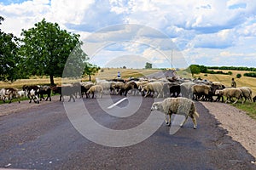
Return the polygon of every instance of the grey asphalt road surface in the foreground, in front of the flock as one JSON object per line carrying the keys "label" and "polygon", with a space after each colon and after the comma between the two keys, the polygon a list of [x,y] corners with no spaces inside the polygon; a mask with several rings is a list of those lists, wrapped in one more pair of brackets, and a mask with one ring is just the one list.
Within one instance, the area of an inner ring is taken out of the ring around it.
{"label": "grey asphalt road surface in the foreground, in front of the flock", "polygon": [[[129,97],[129,99],[136,97]],[[104,99],[104,97],[103,97]],[[102,99],[102,100],[103,100]],[[113,103],[121,99],[112,97]],[[81,100],[80,100],[81,101]],[[139,110],[125,117],[106,114],[96,99],[83,99],[90,116],[104,127],[137,127],[150,114],[153,99],[143,99]],[[131,100],[130,100],[131,101]],[[79,99],[73,105],[76,109]],[[28,104],[36,105],[36,104]],[[120,109],[129,105],[124,100]],[[253,156],[218,127],[200,103],[198,128],[191,119],[177,133],[162,125],[148,139],[126,147],[96,144],[79,133],[62,102],[0,117],[0,167],[24,169],[256,169]],[[76,110],[75,110],[76,111]],[[79,111],[77,111],[79,112]],[[124,109],[125,112],[125,109]],[[139,134],[137,134],[139,135]],[[100,138],[100,137],[99,137]],[[108,137],[112,138],[112,137]],[[106,140],[108,140],[106,138]]]}

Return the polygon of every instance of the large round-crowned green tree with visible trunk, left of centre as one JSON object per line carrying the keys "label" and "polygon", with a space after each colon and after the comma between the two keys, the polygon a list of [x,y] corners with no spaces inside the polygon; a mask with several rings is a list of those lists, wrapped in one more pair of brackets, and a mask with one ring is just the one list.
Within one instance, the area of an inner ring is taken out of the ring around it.
{"label": "large round-crowned green tree with visible trunk, left of centre", "polygon": [[[78,34],[61,30],[57,23],[38,22],[28,30],[22,30],[24,70],[29,75],[54,77],[79,77],[83,74],[87,55],[81,49]],[[64,70],[65,68],[65,70]]]}

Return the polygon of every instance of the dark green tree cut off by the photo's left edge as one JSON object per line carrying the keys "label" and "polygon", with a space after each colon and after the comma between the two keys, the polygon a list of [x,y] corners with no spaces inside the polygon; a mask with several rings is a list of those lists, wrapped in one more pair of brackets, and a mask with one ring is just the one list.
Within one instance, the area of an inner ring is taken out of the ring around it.
{"label": "dark green tree cut off by the photo's left edge", "polygon": [[[0,25],[4,18],[0,16]],[[17,62],[20,61],[19,39],[0,29],[0,81],[15,81],[20,77]]]}

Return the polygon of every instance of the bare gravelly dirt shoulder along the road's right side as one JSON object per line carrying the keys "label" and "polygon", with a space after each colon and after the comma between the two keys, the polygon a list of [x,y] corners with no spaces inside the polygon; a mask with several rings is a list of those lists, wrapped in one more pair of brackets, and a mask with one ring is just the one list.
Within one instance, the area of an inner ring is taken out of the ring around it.
{"label": "bare gravelly dirt shoulder along the road's right side", "polygon": [[247,113],[231,105],[215,102],[201,102],[216,117],[219,126],[228,130],[228,135],[239,142],[256,158],[256,121]]}

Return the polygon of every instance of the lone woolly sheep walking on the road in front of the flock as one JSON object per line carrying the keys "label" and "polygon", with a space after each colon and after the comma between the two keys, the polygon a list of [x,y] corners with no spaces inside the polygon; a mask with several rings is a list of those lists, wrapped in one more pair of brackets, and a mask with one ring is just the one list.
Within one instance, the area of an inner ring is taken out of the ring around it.
{"label": "lone woolly sheep walking on the road in front of the flock", "polygon": [[[180,124],[183,127],[184,123],[187,121],[188,116],[192,118],[194,123],[194,129],[197,127],[196,117],[199,114],[196,112],[195,102],[191,99],[178,97],[178,98],[166,98],[160,102],[154,102],[151,106],[151,111],[161,111],[166,115],[166,124],[171,126],[171,116],[172,114],[185,115],[185,120]],[[169,120],[167,120],[169,116]]]}

